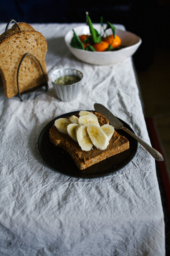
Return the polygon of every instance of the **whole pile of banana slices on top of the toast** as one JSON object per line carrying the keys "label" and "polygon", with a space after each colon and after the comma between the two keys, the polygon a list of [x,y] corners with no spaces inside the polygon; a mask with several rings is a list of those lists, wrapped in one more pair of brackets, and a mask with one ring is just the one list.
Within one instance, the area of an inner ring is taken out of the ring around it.
{"label": "whole pile of banana slices on top of the toast", "polygon": [[54,125],[58,131],[78,142],[83,151],[91,150],[92,146],[105,150],[115,131],[109,124],[100,127],[97,116],[85,110],[79,112],[79,117],[72,115],[69,119],[56,119]]}

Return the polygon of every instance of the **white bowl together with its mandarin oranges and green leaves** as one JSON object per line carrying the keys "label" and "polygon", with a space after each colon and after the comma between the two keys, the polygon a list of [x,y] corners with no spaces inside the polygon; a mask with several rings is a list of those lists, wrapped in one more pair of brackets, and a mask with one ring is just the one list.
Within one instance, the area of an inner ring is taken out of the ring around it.
{"label": "white bowl together with its mandarin oranges and green leaves", "polygon": [[69,51],[79,60],[92,65],[111,65],[131,57],[141,44],[136,34],[120,30],[113,24],[92,24],[86,13],[86,23],[65,35]]}

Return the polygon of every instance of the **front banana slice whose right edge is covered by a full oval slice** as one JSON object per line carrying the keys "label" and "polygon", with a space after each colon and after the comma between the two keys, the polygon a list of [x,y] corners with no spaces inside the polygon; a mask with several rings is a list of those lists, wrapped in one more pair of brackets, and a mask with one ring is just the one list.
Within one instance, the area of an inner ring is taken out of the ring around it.
{"label": "front banana slice whose right edge is covered by a full oval slice", "polygon": [[93,144],[87,132],[87,125],[78,125],[75,130],[75,134],[81,149],[84,151],[91,150]]}

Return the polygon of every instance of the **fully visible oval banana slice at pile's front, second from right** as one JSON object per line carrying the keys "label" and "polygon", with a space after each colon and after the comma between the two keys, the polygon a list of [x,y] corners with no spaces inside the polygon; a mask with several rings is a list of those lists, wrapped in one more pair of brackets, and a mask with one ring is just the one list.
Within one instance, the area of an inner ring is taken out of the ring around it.
{"label": "fully visible oval banana slice at pile's front, second from right", "polygon": [[87,132],[95,147],[97,147],[99,150],[105,150],[107,148],[109,141],[106,134],[100,127],[90,124],[87,127]]}

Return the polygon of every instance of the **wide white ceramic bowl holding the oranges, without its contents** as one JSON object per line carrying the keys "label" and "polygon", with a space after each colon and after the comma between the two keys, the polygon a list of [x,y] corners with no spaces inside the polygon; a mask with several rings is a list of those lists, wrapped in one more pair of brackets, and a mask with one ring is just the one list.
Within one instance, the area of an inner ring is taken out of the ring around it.
{"label": "wide white ceramic bowl holding the oranges, without its contents", "polygon": [[[100,31],[100,25],[93,25],[93,26],[95,29],[97,29],[98,32]],[[78,36],[81,34],[89,34],[89,28],[88,26],[85,26],[85,25],[78,26],[73,29]],[[122,41],[121,45],[126,46],[125,48],[122,48],[118,51],[90,52],[90,51],[74,48],[70,45],[71,39],[73,37],[72,30],[68,31],[67,34],[65,35],[65,42],[70,52],[79,60],[82,60],[89,64],[94,64],[94,65],[110,65],[110,64],[124,61],[126,58],[132,56],[142,42],[140,37],[138,37],[137,35],[129,31],[116,29],[115,32],[121,38],[121,41]],[[108,29],[107,34],[112,34],[112,30]]]}

